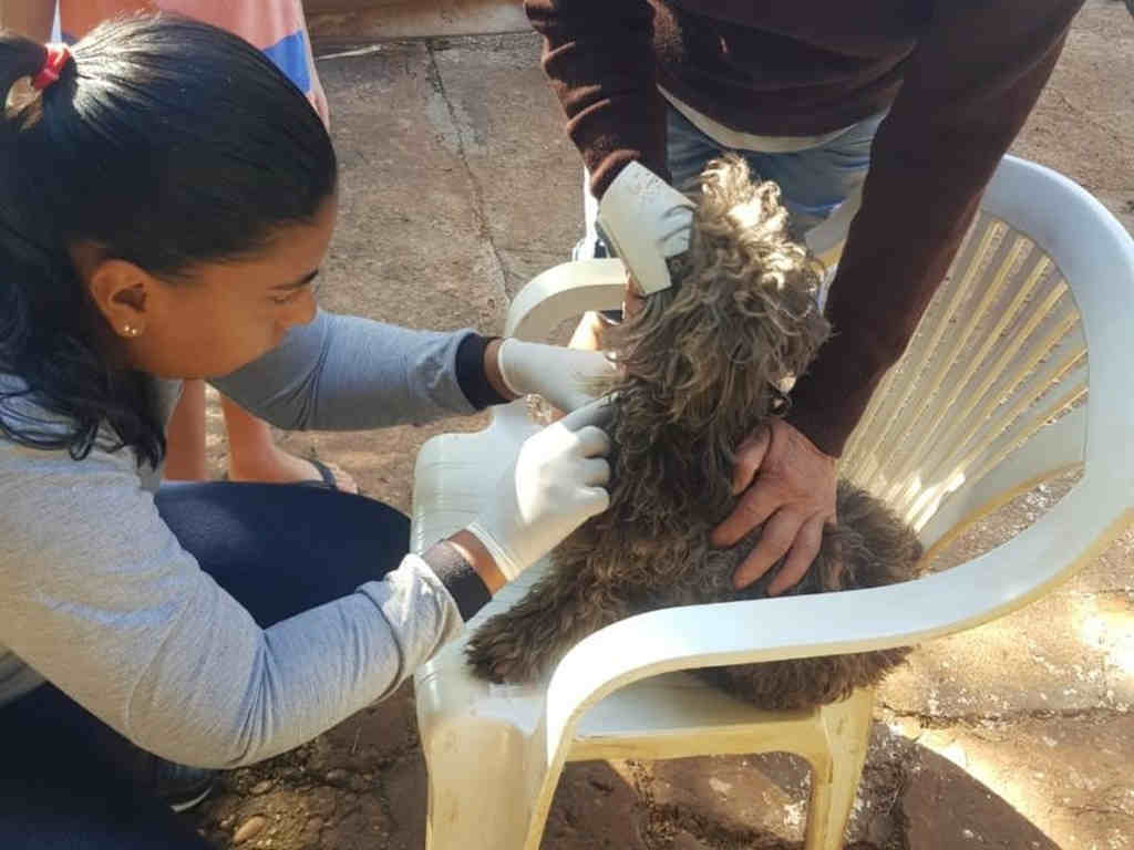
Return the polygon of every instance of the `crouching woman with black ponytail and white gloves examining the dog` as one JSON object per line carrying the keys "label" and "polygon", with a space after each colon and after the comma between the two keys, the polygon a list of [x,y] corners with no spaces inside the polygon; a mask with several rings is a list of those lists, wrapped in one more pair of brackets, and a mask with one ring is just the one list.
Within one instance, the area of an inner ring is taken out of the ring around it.
{"label": "crouching woman with black ponytail and white gloves examining the dog", "polygon": [[[336,160],[246,42],[141,16],[71,48],[0,32],[0,847],[203,848],[210,771],[392,692],[505,581],[604,510],[594,352],[318,309]],[[181,382],[284,428],[472,414],[539,392],[468,527],[327,487],[161,486]],[[172,780],[172,783],[170,783]]]}

